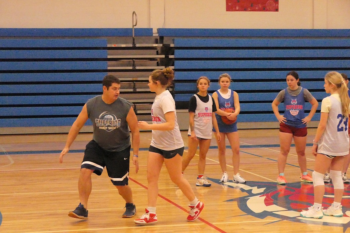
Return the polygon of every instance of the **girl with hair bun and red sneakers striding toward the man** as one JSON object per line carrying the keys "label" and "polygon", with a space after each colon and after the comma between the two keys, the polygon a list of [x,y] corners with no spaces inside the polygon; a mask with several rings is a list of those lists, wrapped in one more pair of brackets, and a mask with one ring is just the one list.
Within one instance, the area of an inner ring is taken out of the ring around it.
{"label": "girl with hair bun and red sneakers striding toward the man", "polygon": [[163,163],[170,179],[181,189],[190,201],[187,221],[194,221],[203,210],[204,204],[198,201],[191,185],[181,174],[181,161],[184,151],[179,125],[177,124],[175,101],[167,87],[174,79],[171,68],[155,70],[148,79],[151,92],[156,93],[152,105],[152,124],[139,121],[140,129],[152,130],[152,141],[147,160],[148,206],[146,213],[135,219],[136,224],[155,223],[158,221],[156,202],[158,197],[158,179]]}

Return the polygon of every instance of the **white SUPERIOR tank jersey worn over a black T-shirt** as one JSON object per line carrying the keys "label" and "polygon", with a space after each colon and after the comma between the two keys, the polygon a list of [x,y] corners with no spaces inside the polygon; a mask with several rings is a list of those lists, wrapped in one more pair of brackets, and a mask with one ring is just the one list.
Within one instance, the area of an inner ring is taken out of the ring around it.
{"label": "white SUPERIOR tank jersey worn over a black T-shirt", "polygon": [[[197,95],[194,95],[197,100],[197,108],[195,111],[195,125],[194,130],[196,136],[204,139],[211,139],[213,123],[212,123],[212,110],[213,100],[209,96],[209,101],[204,103],[199,99]],[[188,129],[188,135],[191,135],[191,129]]]}

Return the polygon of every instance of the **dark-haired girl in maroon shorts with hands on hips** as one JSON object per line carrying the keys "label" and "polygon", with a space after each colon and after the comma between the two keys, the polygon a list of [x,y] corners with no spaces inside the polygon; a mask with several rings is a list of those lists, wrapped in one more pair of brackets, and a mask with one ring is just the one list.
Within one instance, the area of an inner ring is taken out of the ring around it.
{"label": "dark-haired girl in maroon shorts with hands on hips", "polygon": [[[290,71],[286,77],[288,87],[280,91],[276,99],[272,102],[272,110],[280,122],[280,153],[278,155],[278,184],[287,183],[284,176],[287,156],[289,154],[292,139],[294,139],[295,150],[301,170],[300,180],[302,182],[313,182],[312,177],[306,169],[306,124],[311,121],[318,107],[317,100],[310,92],[300,86],[299,75],[295,71]],[[312,107],[308,116],[305,116],[305,102],[311,103]],[[280,115],[278,105],[284,102],[284,114]]]}

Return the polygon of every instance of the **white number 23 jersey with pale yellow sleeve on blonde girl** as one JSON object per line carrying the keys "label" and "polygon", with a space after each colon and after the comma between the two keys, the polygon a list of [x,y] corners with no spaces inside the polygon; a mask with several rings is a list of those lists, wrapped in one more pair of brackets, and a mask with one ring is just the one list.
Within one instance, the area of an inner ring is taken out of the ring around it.
{"label": "white number 23 jersey with pale yellow sleeve on blonde girl", "polygon": [[348,117],[342,116],[339,94],[322,100],[321,112],[328,112],[326,128],[318,142],[317,153],[332,156],[349,154]]}

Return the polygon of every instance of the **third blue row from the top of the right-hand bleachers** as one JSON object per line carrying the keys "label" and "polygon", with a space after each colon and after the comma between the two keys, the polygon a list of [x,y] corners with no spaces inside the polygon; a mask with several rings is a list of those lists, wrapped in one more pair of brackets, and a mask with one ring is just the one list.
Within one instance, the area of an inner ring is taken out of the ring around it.
{"label": "third blue row from the top of the right-hand bleachers", "polygon": [[[178,58],[307,58],[307,57],[350,57],[350,49],[189,49],[175,50]],[[200,59],[198,59],[200,60]]]}

